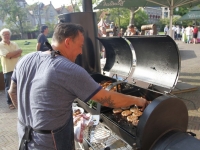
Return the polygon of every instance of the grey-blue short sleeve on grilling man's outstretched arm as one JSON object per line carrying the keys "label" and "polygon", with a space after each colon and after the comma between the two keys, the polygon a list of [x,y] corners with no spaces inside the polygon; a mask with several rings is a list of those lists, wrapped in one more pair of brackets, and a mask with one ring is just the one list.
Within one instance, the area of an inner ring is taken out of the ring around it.
{"label": "grey-blue short sleeve on grilling man's outstretched arm", "polygon": [[60,84],[82,101],[90,100],[101,90],[102,87],[82,67],[71,64],[66,70],[60,74]]}

